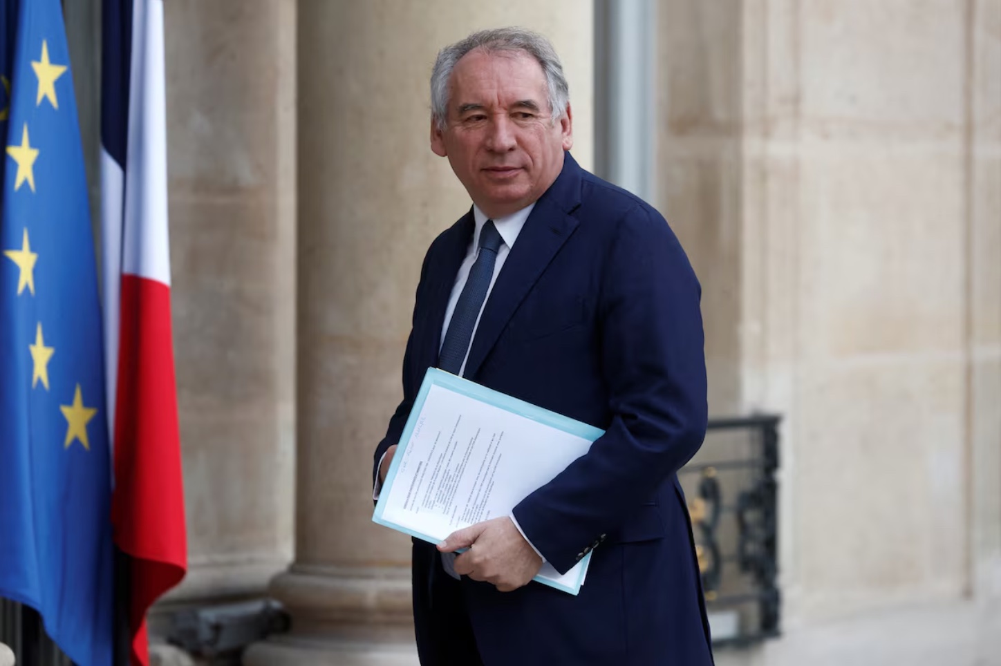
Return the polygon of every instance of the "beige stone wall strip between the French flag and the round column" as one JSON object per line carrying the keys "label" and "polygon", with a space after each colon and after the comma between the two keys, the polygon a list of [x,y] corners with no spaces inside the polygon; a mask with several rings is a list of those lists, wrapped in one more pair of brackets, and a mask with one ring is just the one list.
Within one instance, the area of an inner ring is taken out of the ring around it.
{"label": "beige stone wall strip between the French flag and the round column", "polygon": [[189,573],[262,591],[292,555],[294,0],[164,4]]}

